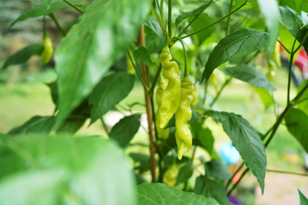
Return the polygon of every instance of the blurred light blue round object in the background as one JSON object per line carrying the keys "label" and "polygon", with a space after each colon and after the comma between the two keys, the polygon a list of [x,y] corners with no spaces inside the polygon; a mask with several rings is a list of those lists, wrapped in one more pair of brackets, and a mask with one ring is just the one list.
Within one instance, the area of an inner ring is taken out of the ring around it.
{"label": "blurred light blue round object in the background", "polygon": [[233,147],[231,142],[226,142],[221,146],[219,156],[227,166],[230,164],[236,164],[240,160],[240,154],[237,152],[235,147]]}

